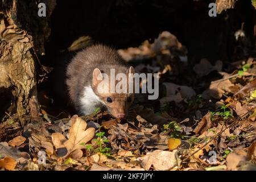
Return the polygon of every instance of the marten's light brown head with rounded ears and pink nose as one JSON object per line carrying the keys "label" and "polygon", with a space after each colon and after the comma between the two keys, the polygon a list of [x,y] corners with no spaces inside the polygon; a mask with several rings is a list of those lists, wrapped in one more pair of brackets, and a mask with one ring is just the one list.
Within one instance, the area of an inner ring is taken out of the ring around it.
{"label": "marten's light brown head with rounded ears and pink nose", "polygon": [[[92,89],[115,118],[124,118],[134,101],[134,68],[110,69],[108,73],[95,68]],[[129,90],[129,86],[132,86]]]}

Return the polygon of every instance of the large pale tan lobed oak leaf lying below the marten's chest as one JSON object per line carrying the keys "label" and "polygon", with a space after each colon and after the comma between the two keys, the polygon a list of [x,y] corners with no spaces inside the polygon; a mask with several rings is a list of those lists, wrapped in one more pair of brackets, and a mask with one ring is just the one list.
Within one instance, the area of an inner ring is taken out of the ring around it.
{"label": "large pale tan lobed oak leaf lying below the marten's chest", "polygon": [[81,143],[87,143],[94,137],[95,129],[92,127],[86,129],[86,126],[87,123],[83,119],[77,117],[75,123],[73,123],[69,129],[68,140],[65,139],[61,133],[52,134],[52,142],[56,148],[67,148],[67,154],[64,158],[71,154],[71,152],[84,148]]}

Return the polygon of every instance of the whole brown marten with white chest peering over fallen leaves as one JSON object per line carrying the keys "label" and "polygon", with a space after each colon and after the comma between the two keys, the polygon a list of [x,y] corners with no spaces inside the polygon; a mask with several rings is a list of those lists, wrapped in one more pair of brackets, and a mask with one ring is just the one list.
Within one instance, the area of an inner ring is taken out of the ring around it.
{"label": "whole brown marten with white chest peering over fallen leaves", "polygon": [[100,93],[97,77],[102,73],[134,73],[133,67],[127,67],[117,51],[107,46],[96,45],[77,53],[67,67],[66,84],[69,97],[80,114],[91,114],[102,105],[116,118],[125,117],[134,100],[133,93]]}

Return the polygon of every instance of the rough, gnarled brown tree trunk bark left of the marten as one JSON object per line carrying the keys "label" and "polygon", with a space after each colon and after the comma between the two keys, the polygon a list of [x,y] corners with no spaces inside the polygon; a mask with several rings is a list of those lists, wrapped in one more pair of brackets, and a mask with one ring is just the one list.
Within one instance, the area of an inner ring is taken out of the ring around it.
{"label": "rough, gnarled brown tree trunk bark left of the marten", "polygon": [[[48,17],[55,6],[49,1]],[[0,7],[0,88],[14,88],[16,111],[24,126],[39,119],[36,54],[44,54],[50,28],[38,16],[38,1],[3,1]],[[28,33],[29,32],[29,33]]]}

